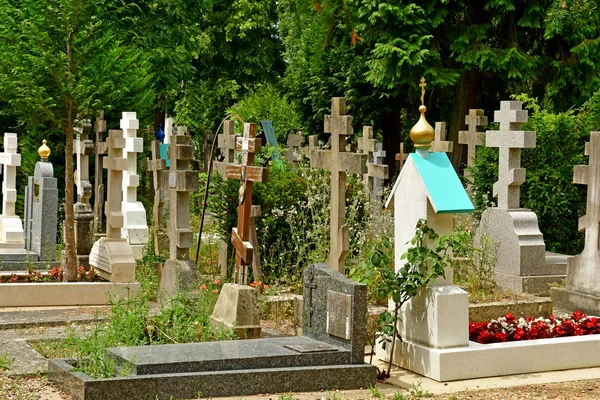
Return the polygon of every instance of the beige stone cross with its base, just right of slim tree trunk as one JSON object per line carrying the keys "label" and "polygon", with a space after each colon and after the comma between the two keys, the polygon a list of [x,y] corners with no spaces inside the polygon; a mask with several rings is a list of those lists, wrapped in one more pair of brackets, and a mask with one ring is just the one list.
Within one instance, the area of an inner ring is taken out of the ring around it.
{"label": "beige stone cross with its base, just right of slim tree trunk", "polygon": [[106,204],[106,236],[98,239],[90,253],[90,265],[98,274],[111,282],[135,282],[135,257],[127,239],[121,237],[123,228],[123,171],[127,169],[124,157],[123,131],[110,130],[106,141],[108,156],[104,168],[108,170]]}

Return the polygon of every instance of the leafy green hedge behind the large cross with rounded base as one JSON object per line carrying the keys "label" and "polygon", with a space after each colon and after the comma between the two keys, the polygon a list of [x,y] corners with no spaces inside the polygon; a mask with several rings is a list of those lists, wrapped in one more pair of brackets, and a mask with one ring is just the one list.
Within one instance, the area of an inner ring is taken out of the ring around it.
{"label": "leafy green hedge behind the large cross with rounded base", "polygon": [[[558,114],[542,110],[527,96],[518,99],[530,110],[524,129],[537,132],[536,148],[522,150],[521,165],[527,170],[527,180],[521,185],[521,207],[537,214],[548,250],[576,254],[583,243],[577,233],[577,218],[585,213],[586,187],[573,184],[573,166],[588,163],[584,142],[598,126],[600,93],[581,109]],[[497,149],[479,148],[473,169],[479,213],[493,201],[497,162]]]}

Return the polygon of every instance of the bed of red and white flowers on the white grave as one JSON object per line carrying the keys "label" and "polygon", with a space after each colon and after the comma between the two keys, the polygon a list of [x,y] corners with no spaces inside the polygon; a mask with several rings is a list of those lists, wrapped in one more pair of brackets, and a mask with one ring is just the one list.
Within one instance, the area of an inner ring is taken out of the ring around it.
{"label": "bed of red and white flowers on the white grave", "polygon": [[469,340],[482,344],[545,339],[600,333],[600,318],[588,317],[581,311],[571,316],[550,318],[515,318],[508,313],[490,322],[469,324]]}

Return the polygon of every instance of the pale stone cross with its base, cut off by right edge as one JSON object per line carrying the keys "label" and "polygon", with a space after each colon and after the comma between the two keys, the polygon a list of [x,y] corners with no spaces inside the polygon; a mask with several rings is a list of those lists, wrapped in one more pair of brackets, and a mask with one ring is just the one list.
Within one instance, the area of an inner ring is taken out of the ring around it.
{"label": "pale stone cross with its base, cut off by right edge", "polygon": [[552,301],[561,310],[580,310],[600,315],[600,132],[592,132],[585,144],[588,165],[575,165],[573,182],[587,185],[586,214],[579,218],[579,230],[585,230],[581,254],[567,261],[567,287],[552,288]]}

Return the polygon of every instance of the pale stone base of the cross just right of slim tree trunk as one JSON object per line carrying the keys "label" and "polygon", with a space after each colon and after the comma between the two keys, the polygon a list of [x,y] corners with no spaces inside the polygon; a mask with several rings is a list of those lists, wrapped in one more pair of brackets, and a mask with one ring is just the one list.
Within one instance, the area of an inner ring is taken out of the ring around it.
{"label": "pale stone base of the cross just right of slim tree trunk", "polygon": [[135,258],[126,239],[98,240],[90,253],[90,265],[111,282],[135,282]]}

